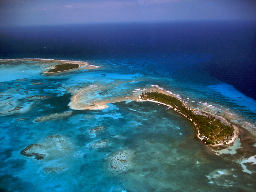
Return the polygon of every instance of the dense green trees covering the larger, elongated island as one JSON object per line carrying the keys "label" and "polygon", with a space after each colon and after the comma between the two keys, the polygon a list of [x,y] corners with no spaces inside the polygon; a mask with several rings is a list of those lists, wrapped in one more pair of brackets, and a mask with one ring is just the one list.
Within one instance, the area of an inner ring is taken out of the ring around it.
{"label": "dense green trees covering the larger, elongated island", "polygon": [[224,125],[221,123],[219,118],[210,116],[205,112],[203,115],[195,114],[194,110],[188,109],[180,100],[175,97],[168,96],[158,92],[147,92],[140,95],[142,100],[151,99],[166,105],[172,106],[176,112],[184,114],[187,118],[195,123],[198,131],[199,137],[203,138],[202,141],[206,144],[226,144],[234,134],[233,125]]}

